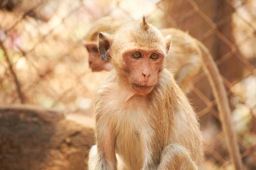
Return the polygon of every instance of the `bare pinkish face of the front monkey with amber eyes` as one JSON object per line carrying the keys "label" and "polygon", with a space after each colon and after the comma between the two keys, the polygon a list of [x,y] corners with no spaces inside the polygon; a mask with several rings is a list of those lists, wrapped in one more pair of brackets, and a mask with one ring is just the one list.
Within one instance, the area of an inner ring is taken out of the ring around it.
{"label": "bare pinkish face of the front monkey with amber eyes", "polygon": [[126,51],[122,59],[121,75],[128,79],[131,88],[139,95],[150,93],[163,69],[163,51],[133,49]]}

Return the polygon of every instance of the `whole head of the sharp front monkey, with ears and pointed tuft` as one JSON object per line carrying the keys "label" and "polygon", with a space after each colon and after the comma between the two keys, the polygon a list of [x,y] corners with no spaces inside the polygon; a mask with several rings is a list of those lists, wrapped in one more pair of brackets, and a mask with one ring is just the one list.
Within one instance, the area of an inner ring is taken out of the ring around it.
{"label": "whole head of the sharp front monkey, with ears and pointed tuft", "polygon": [[127,23],[114,34],[99,33],[99,53],[111,61],[121,81],[136,94],[146,95],[157,84],[164,57],[171,45],[171,36],[143,20]]}

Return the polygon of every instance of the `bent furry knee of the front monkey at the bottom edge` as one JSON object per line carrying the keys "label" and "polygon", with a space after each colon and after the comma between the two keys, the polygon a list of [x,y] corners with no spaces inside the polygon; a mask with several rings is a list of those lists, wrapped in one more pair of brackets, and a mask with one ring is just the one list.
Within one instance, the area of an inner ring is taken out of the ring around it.
{"label": "bent furry knee of the front monkey at the bottom edge", "polygon": [[171,144],[161,153],[158,170],[198,170],[185,147]]}

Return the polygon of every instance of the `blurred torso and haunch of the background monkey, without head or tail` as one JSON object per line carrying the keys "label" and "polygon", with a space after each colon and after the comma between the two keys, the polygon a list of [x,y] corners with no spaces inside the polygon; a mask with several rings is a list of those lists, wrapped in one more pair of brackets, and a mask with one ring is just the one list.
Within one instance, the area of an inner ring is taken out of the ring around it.
{"label": "blurred torso and haunch of the background monkey, without head or tail", "polygon": [[167,68],[171,69],[180,88],[188,94],[192,91],[192,79],[202,66],[200,42],[187,32],[176,28],[164,28],[163,36],[172,35],[172,50],[168,53]]}

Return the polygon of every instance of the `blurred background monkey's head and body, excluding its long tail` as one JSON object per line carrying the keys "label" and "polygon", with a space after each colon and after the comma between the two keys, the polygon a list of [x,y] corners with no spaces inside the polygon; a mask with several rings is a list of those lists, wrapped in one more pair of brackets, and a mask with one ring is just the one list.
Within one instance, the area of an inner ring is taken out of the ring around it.
{"label": "blurred background monkey's head and body, excluding its long tail", "polygon": [[[113,21],[116,23],[113,24]],[[88,62],[93,72],[109,71],[113,68],[111,62],[104,62],[100,58],[96,35],[99,34],[99,31],[113,33],[123,24],[123,21],[114,20],[111,17],[102,17],[90,29],[85,46],[89,52]],[[193,88],[192,78],[198,74],[202,65],[201,50],[198,47],[197,40],[176,28],[166,28],[160,30],[160,32],[163,36],[172,35],[172,50],[168,53],[166,67],[173,72],[180,88],[185,93],[189,93]]]}

